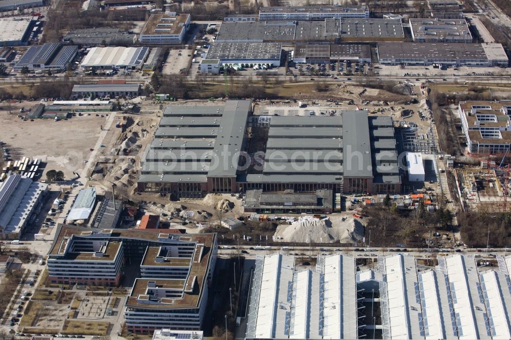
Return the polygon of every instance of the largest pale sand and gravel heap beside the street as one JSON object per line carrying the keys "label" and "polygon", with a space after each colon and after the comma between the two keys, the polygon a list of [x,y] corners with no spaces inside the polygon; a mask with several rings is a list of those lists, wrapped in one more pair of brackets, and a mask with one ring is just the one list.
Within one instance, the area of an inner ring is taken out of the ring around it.
{"label": "largest pale sand and gravel heap beside the street", "polygon": [[352,216],[344,221],[340,217],[327,217],[320,220],[306,216],[291,225],[280,225],[274,235],[281,242],[312,242],[316,243],[352,243],[364,237],[364,225]]}

